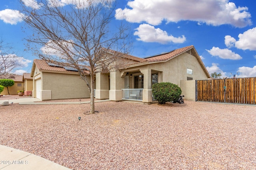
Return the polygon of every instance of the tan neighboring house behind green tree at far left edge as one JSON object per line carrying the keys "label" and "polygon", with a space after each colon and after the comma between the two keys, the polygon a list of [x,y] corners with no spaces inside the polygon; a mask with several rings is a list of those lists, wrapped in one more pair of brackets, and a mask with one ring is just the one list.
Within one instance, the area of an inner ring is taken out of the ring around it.
{"label": "tan neighboring house behind green tree at far left edge", "polygon": [[[10,75],[5,77],[5,79],[14,80],[14,85],[8,87],[10,95],[18,95],[18,90],[24,90],[24,81],[22,78],[22,75]],[[8,95],[7,87],[4,88],[4,91],[2,91],[1,95]]]}

